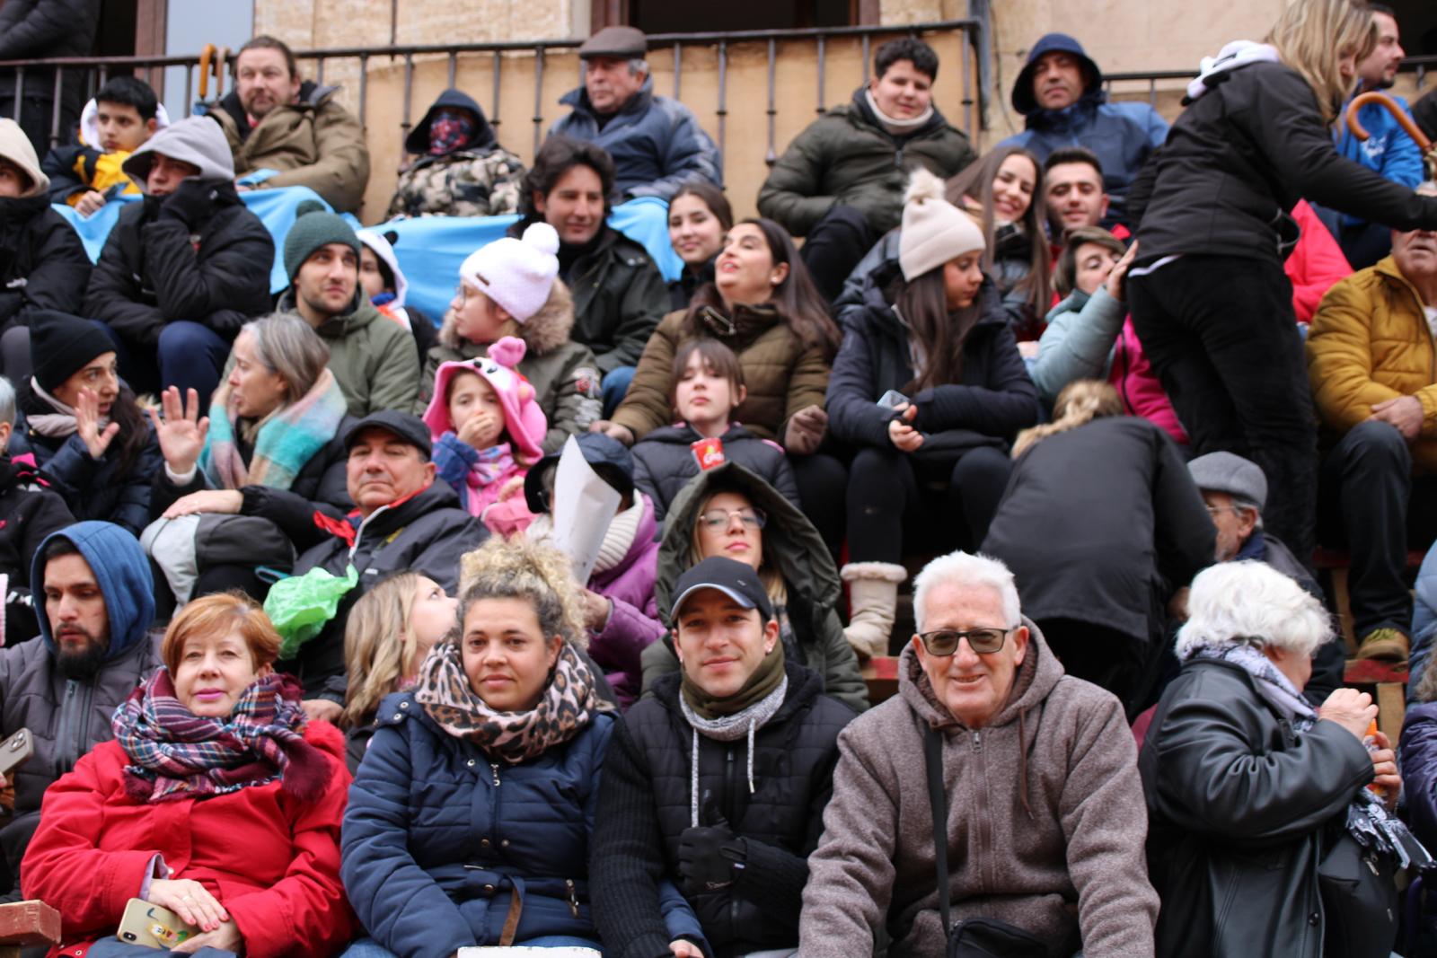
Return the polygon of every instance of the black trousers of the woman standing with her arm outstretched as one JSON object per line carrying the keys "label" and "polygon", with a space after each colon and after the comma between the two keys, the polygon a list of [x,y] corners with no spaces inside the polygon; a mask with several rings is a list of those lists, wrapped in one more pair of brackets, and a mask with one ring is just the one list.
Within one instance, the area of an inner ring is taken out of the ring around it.
{"label": "black trousers of the woman standing with her arm outstretched", "polygon": [[1184,256],[1129,277],[1128,304],[1193,455],[1224,450],[1260,465],[1272,490],[1263,521],[1311,563],[1318,431],[1282,267]]}

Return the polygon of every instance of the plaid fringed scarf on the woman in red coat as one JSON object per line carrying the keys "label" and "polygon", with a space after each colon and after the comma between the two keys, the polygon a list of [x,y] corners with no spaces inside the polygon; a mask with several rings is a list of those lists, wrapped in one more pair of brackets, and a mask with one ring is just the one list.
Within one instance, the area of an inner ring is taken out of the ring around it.
{"label": "plaid fringed scarf on the woman in red coat", "polygon": [[137,801],[205,799],[283,778],[300,800],[319,797],[325,757],[305,741],[300,687],[289,675],[256,679],[227,718],[195,715],[160,666],[115,710],[115,741],[134,764],[125,790]]}

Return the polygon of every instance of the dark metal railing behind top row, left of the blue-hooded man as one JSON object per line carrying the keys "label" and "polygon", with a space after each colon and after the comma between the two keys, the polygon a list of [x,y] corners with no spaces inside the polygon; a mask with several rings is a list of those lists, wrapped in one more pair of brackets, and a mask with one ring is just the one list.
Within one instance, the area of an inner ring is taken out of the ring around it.
{"label": "dark metal railing behind top row, left of the blue-hooded man", "polygon": [[[879,37],[894,37],[902,34],[921,36],[934,34],[944,32],[960,32],[964,34],[963,62],[960,65],[961,73],[961,108],[963,121],[966,132],[970,136],[976,132],[973,128],[981,124],[983,111],[986,108],[986,96],[983,85],[976,82],[974,63],[984,63],[987,59],[987,39],[983,32],[983,24],[976,19],[964,20],[943,20],[933,23],[912,23],[912,24],[894,24],[894,26],[854,26],[854,27],[815,27],[802,30],[740,30],[729,33],[667,33],[654,34],[648,37],[650,50],[648,59],[651,65],[655,57],[662,56],[667,50],[673,57],[673,96],[674,99],[683,99],[683,79],[684,79],[684,50],[693,47],[708,47],[717,55],[717,109],[716,109],[716,139],[720,149],[720,157],[726,155],[724,147],[727,138],[727,116],[730,112],[727,78],[730,68],[730,56],[737,46],[744,45],[764,45],[767,56],[767,148],[766,159],[773,162],[777,158],[779,144],[775,142],[775,121],[779,113],[779,93],[776,83],[776,66],[780,59],[780,43],[790,42],[810,42],[818,57],[818,69],[815,76],[815,112],[822,113],[832,106],[828,102],[828,95],[831,89],[828,88],[828,47],[835,40],[854,40],[856,39],[861,45],[862,55],[862,72],[864,82],[868,82],[869,65],[872,62],[872,43]],[[499,128],[504,122],[502,113],[500,89],[503,82],[503,65],[506,56],[513,55],[532,55],[533,56],[533,116],[530,122],[533,124],[533,145],[535,149],[539,148],[540,141],[545,134],[545,116],[543,116],[543,82],[546,70],[546,59],[553,52],[569,52],[576,49],[582,43],[582,39],[563,39],[563,40],[525,40],[525,42],[496,42],[496,43],[456,43],[456,45],[404,45],[404,46],[364,46],[364,47],[331,47],[320,50],[296,50],[295,56],[312,69],[302,70],[306,76],[312,76],[316,82],[323,83],[326,65],[333,65],[336,60],[348,60],[358,65],[358,89],[355,90],[355,106],[359,121],[364,124],[368,116],[369,106],[369,69],[374,62],[388,59],[389,63],[402,60],[404,65],[404,103],[402,103],[402,121],[399,124],[401,139],[408,134],[415,105],[412,103],[414,92],[414,75],[415,75],[415,60],[434,60],[438,57],[447,59],[448,69],[448,85],[454,85],[454,78],[458,70],[460,60],[468,59],[483,59],[489,57],[491,60],[491,79],[490,79],[490,96],[486,105],[490,109],[489,122]],[[223,63],[223,59],[216,60]],[[46,60],[4,60],[0,62],[0,78],[6,72],[11,72],[16,78],[13,108],[14,115],[20,113],[20,103],[24,96],[24,75],[26,70],[34,72],[37,69],[55,69],[53,80],[53,108],[52,108],[52,122],[50,122],[50,142],[52,145],[57,142],[63,132],[60,129],[60,92],[62,83],[79,82],[80,89],[88,98],[93,93],[105,79],[116,70],[142,70],[142,69],[158,69],[158,68],[174,68],[182,66],[185,70],[185,106],[184,115],[190,115],[193,109],[190,90],[195,89],[195,70],[200,65],[200,55],[193,56],[116,56],[116,57],[102,57],[102,59],[85,59],[85,57],[63,57],[63,59],[46,59]],[[582,76],[578,78],[582,80]],[[218,90],[223,95],[226,88],[226,78],[221,75],[217,78]],[[479,99],[479,98],[476,98]],[[0,111],[9,108],[10,103],[0,102]],[[421,108],[422,115],[422,108]],[[958,125],[958,124],[956,124]]]}

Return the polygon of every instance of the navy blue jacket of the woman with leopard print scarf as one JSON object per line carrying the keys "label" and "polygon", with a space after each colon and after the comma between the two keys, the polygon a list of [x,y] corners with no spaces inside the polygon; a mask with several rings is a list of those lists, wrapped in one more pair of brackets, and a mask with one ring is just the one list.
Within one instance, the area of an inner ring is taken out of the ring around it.
{"label": "navy blue jacket of the woman with leopard print scarf", "polygon": [[[598,941],[589,836],[615,718],[517,766],[450,735],[410,692],[379,704],[345,810],[342,876],[369,935],[401,958],[497,945],[513,896],[513,944]],[[677,898],[677,890],[674,892]],[[698,922],[671,925],[698,935]]]}

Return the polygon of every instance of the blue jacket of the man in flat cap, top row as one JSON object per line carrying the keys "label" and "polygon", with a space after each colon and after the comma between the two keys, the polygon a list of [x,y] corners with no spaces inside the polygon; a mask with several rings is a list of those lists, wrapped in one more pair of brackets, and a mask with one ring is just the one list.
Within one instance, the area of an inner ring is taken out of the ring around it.
{"label": "blue jacket of the man in flat cap, top row", "polygon": [[614,157],[616,187],[625,200],[658,197],[668,201],[685,182],[723,185],[718,148],[698,125],[693,111],[675,99],[654,95],[654,78],[599,128],[581,86],[559,99],[572,108],[555,121],[550,136],[573,136],[596,144]]}

